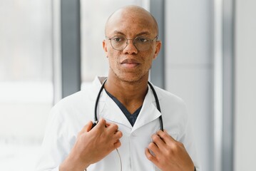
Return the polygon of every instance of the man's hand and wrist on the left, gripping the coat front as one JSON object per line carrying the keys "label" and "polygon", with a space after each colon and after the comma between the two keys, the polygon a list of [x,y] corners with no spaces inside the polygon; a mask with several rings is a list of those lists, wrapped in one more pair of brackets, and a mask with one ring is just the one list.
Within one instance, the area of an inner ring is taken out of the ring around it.
{"label": "man's hand and wrist on the left, gripping the coat front", "polygon": [[78,133],[75,145],[59,167],[60,171],[83,171],[121,146],[119,139],[122,133],[118,130],[118,125],[106,123],[102,118],[93,129],[92,125],[90,121]]}

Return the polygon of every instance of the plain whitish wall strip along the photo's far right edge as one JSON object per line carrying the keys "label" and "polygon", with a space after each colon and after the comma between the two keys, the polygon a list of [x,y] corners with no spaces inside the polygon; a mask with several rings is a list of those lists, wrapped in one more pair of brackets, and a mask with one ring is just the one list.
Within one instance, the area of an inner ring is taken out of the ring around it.
{"label": "plain whitish wall strip along the photo's far right edge", "polygon": [[256,162],[256,1],[237,0],[235,56],[235,170]]}

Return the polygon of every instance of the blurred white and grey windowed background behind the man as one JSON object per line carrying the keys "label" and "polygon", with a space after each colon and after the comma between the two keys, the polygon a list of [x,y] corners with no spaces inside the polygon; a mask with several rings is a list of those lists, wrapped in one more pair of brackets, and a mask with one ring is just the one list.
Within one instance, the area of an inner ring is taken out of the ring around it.
{"label": "blurred white and grey windowed background behind the man", "polygon": [[107,75],[104,25],[128,4],[158,21],[150,81],[187,103],[203,170],[254,170],[254,0],[0,0],[0,170],[34,170],[52,106]]}

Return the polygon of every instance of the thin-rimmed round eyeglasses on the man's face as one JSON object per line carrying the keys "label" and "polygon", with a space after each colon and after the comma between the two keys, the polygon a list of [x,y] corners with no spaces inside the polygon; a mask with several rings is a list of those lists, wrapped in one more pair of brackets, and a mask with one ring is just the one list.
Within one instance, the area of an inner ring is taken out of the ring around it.
{"label": "thin-rimmed round eyeglasses on the man's face", "polygon": [[158,36],[155,36],[153,40],[145,36],[138,36],[134,39],[128,39],[122,35],[113,36],[112,38],[108,38],[106,36],[106,38],[111,41],[111,46],[117,51],[122,51],[124,48],[126,48],[126,46],[128,46],[128,40],[133,40],[133,45],[138,51],[147,51],[150,48],[151,43],[158,39]]}

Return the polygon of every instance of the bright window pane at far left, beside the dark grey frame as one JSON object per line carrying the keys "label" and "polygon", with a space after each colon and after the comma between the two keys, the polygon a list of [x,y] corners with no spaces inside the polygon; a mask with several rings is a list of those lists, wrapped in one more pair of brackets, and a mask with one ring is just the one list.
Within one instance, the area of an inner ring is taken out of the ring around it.
{"label": "bright window pane at far left, beside the dark grey frame", "polygon": [[0,170],[34,170],[53,105],[51,1],[0,6]]}

